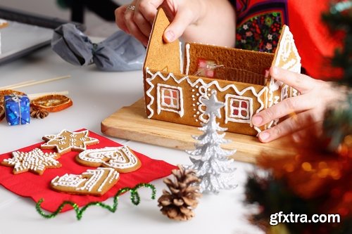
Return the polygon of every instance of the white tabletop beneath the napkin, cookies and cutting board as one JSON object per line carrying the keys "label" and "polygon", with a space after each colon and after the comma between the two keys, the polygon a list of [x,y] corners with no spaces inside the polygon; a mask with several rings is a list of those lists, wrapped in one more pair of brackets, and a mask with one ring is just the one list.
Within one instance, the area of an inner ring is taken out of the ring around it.
{"label": "white tabletop beneath the napkin, cookies and cutting board", "polygon": [[[30,124],[8,126],[0,122],[0,154],[42,141],[46,134],[57,134],[62,129],[75,131],[86,128],[101,134],[100,123],[124,105],[143,96],[142,71],[101,72],[94,65],[74,67],[61,60],[50,48],[44,48],[13,63],[0,65],[0,86],[42,80],[70,74],[70,79],[37,84],[18,89],[27,94],[68,91],[73,106],[51,113],[45,119],[32,119]],[[124,139],[113,141],[129,145],[149,157],[171,164],[189,164],[186,152],[147,145]],[[141,203],[134,206],[130,195],[120,197],[118,210],[108,212],[101,207],[89,207],[80,221],[75,212],[59,214],[54,219],[39,216],[33,200],[20,197],[0,186],[0,234],[11,233],[262,233],[246,221],[250,207],[244,205],[244,183],[251,164],[237,162],[237,183],[234,190],[223,190],[218,195],[203,195],[196,216],[191,221],[173,221],[163,216],[157,199],[166,188],[162,179],[152,181],[156,186],[156,200],[150,190],[140,190]],[[1,173],[1,167],[0,167]],[[106,200],[112,204],[112,199]]]}

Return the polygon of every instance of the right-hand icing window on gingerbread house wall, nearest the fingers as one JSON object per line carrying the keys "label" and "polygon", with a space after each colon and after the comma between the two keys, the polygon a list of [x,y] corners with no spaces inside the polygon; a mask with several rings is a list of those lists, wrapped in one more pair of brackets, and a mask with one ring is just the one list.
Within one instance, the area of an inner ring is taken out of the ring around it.
{"label": "right-hand icing window on gingerbread house wall, nearest the fingers", "polygon": [[[239,104],[233,105],[235,102]],[[246,103],[246,105],[243,103]],[[237,114],[235,114],[235,112],[237,112]],[[246,113],[246,115],[243,113]],[[253,98],[233,94],[225,95],[225,123],[239,122],[251,124],[252,116]]]}

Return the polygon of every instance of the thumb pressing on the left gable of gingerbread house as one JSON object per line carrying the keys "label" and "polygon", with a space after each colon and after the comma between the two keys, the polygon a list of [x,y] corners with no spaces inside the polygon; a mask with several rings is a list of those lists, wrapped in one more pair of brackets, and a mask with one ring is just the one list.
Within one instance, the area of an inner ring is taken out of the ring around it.
{"label": "thumb pressing on the left gable of gingerbread house", "polygon": [[184,30],[194,21],[193,18],[194,16],[189,9],[178,11],[163,34],[164,41],[170,43],[181,37]]}

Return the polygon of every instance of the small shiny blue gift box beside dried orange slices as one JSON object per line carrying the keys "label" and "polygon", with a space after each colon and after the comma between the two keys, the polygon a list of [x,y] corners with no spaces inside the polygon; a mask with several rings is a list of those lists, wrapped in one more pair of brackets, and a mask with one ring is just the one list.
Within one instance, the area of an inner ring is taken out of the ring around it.
{"label": "small shiny blue gift box beside dried orange slices", "polygon": [[5,115],[9,125],[30,123],[30,99],[25,95],[4,96]]}

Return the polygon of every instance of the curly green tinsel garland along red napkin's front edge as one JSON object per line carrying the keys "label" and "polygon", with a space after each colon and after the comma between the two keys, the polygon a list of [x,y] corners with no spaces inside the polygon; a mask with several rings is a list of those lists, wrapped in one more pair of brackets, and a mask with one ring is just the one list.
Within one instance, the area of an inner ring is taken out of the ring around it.
{"label": "curly green tinsel garland along red napkin's front edge", "polygon": [[75,202],[64,201],[63,203],[61,203],[61,205],[58,207],[58,209],[56,209],[55,212],[53,212],[51,214],[46,214],[46,212],[44,212],[42,210],[42,208],[40,207],[42,202],[44,202],[44,199],[40,199],[37,202],[35,208],[37,209],[37,212],[41,216],[43,216],[46,219],[51,219],[51,218],[54,218],[55,216],[57,216],[58,213],[61,212],[63,207],[65,207],[65,205],[68,204],[68,205],[72,206],[73,209],[75,209],[77,220],[80,220],[80,219],[82,219],[82,215],[86,211],[86,209],[91,206],[99,206],[99,207],[102,207],[103,209],[107,209],[108,211],[115,213],[116,209],[118,209],[118,197],[122,193],[126,193],[128,191],[131,192],[131,195],[130,195],[131,202],[135,205],[139,204],[139,202],[141,201],[141,197],[139,196],[137,190],[141,187],[150,188],[151,189],[151,199],[154,200],[156,198],[155,186],[153,186],[149,183],[139,183],[139,184],[137,184],[137,186],[134,186],[134,188],[126,187],[126,188],[121,188],[120,190],[118,190],[118,193],[116,193],[115,196],[113,197],[113,206],[110,206],[108,204],[104,204],[103,202],[89,202],[88,204],[86,204],[84,207],[82,207],[80,209],[80,207]]}

